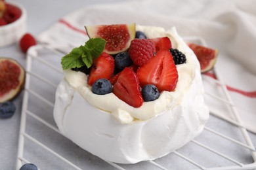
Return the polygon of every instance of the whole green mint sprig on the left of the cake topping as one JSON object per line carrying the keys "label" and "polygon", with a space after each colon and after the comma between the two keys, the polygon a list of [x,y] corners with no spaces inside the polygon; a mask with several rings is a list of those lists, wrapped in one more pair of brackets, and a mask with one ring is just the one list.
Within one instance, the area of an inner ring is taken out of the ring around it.
{"label": "whole green mint sprig on the left of the cake topping", "polygon": [[98,58],[105,48],[106,41],[100,38],[89,39],[84,46],[74,48],[69,54],[62,57],[62,69],[79,68],[93,64],[93,59]]}

